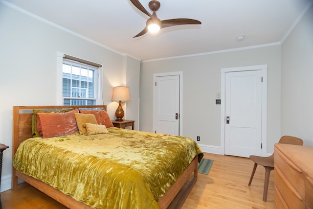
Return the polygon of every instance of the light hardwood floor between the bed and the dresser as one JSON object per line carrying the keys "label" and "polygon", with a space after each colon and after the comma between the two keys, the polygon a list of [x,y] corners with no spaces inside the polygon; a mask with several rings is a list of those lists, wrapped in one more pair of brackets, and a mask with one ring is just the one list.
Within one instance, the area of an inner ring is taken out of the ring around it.
{"label": "light hardwood floor between the bed and the dresser", "polygon": [[183,209],[273,209],[274,172],[270,173],[268,201],[263,202],[265,169],[258,166],[248,186],[254,163],[248,158],[204,153],[214,160],[209,175],[198,174]]}

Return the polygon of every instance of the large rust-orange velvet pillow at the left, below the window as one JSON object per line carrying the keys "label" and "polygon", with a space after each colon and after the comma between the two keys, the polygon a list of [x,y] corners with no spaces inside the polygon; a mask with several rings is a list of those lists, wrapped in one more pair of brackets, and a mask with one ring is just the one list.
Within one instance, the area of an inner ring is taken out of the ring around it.
{"label": "large rust-orange velvet pillow at the left, below the window", "polygon": [[74,109],[67,113],[37,113],[37,129],[42,138],[78,133]]}

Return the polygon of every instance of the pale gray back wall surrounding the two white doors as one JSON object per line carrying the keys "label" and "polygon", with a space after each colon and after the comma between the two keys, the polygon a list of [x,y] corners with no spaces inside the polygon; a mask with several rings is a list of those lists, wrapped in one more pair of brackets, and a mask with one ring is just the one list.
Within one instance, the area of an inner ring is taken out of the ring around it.
{"label": "pale gray back wall surrounding the two white doors", "polygon": [[[280,45],[233,52],[143,62],[140,70],[140,130],[152,131],[153,74],[183,72],[183,136],[210,150],[221,145],[221,106],[215,104],[221,92],[221,69],[268,65],[268,152],[280,138]],[[223,102],[223,101],[222,101]],[[199,110],[205,110],[199,114]],[[218,152],[220,153],[220,152]]]}

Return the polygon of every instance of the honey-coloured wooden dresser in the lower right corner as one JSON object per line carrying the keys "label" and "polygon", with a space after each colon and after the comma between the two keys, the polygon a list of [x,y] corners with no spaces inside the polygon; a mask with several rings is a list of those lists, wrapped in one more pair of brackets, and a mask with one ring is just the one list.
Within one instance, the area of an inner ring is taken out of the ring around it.
{"label": "honey-coloured wooden dresser in the lower right corner", "polygon": [[275,144],[276,209],[313,209],[313,147]]}

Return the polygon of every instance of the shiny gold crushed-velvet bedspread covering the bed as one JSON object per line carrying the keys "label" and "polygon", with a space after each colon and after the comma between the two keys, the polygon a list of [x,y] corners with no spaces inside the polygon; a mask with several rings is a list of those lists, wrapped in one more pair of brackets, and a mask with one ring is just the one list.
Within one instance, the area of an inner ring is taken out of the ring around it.
{"label": "shiny gold crushed-velvet bedspread covering the bed", "polygon": [[95,209],[156,209],[157,201],[196,155],[189,138],[108,128],[21,143],[17,170]]}

